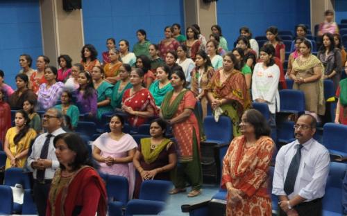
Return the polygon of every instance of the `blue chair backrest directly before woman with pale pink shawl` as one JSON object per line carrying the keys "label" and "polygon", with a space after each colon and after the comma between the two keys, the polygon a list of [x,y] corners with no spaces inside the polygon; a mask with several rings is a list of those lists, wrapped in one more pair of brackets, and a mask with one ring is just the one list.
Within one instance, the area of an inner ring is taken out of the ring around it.
{"label": "blue chair backrest directly before woman with pale pink shawl", "polygon": [[106,182],[106,190],[108,197],[120,201],[123,205],[126,205],[129,197],[129,183],[126,177],[108,175]]}

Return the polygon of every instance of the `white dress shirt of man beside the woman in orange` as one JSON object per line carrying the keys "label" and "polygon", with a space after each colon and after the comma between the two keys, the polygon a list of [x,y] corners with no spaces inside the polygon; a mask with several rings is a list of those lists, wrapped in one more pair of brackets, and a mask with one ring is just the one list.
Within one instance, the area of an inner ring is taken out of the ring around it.
{"label": "white dress shirt of man beside the woman in orange", "polygon": [[[287,195],[284,190],[285,179],[291,159],[298,150],[298,141],[284,145],[276,156],[275,172],[273,173],[272,193],[278,196]],[[312,201],[324,196],[326,179],[329,173],[329,151],[311,138],[303,143],[301,161],[296,176],[294,191],[288,195],[292,199],[296,195]]]}

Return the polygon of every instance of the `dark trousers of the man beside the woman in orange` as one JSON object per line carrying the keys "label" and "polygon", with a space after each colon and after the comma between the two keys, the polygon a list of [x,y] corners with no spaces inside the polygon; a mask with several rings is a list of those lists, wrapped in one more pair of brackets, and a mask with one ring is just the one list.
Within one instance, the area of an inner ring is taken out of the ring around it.
{"label": "dark trousers of the man beside the woman in orange", "polygon": [[[278,209],[280,209],[279,215],[287,215],[281,208],[278,206]],[[322,198],[314,199],[312,201],[303,202],[301,204],[298,204],[294,206],[294,209],[296,212],[298,212],[298,215],[300,216],[321,216],[322,215]]]}

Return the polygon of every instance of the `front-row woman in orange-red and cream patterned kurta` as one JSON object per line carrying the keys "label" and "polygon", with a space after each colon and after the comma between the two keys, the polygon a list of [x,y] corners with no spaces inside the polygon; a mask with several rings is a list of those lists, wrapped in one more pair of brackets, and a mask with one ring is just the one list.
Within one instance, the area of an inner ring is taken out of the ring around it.
{"label": "front-row woman in orange-red and cream patterned kurta", "polygon": [[248,109],[239,126],[242,136],[232,140],[223,159],[226,215],[272,215],[267,181],[275,144],[269,125],[260,111]]}

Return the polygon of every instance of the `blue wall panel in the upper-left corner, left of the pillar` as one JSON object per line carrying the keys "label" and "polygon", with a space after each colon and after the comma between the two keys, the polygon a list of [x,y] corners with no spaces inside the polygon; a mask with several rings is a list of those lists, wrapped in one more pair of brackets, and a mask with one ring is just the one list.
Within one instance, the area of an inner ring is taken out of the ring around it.
{"label": "blue wall panel in the upper-left corner, left of the pillar", "polygon": [[40,5],[38,0],[0,1],[0,69],[5,81],[15,89],[20,70],[19,55],[42,55]]}

